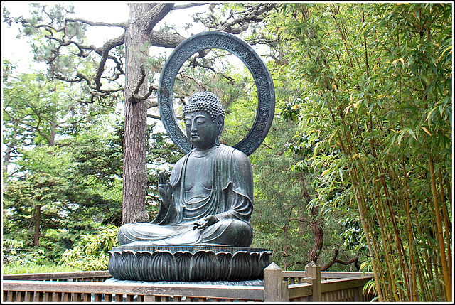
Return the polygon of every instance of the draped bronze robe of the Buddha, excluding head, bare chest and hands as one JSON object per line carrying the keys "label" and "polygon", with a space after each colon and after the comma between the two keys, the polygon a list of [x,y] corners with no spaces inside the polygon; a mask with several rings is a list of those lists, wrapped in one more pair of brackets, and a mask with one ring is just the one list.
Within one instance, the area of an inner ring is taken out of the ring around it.
{"label": "draped bronze robe of the Buddha, excluding head, bare chest and hands", "polygon": [[[185,179],[195,174],[187,168],[190,151],[174,166],[169,182],[173,189],[168,208],[161,207],[151,223],[130,223],[119,229],[120,245],[228,245],[250,247],[253,210],[253,177],[250,159],[223,144],[204,156],[204,170],[211,175],[210,195],[189,203]],[[201,172],[201,171],[198,171]],[[196,220],[215,215],[218,222],[193,230]]]}

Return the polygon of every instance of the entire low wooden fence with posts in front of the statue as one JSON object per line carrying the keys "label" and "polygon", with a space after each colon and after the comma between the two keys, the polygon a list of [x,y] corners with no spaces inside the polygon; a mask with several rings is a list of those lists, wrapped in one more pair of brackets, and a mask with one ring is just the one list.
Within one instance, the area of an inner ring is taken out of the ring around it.
{"label": "entire low wooden fence with posts in front of the statue", "polygon": [[205,301],[371,301],[363,286],[372,274],[321,272],[311,263],[305,271],[264,269],[264,286],[105,283],[108,271],[9,274],[3,276],[4,302],[205,302]]}

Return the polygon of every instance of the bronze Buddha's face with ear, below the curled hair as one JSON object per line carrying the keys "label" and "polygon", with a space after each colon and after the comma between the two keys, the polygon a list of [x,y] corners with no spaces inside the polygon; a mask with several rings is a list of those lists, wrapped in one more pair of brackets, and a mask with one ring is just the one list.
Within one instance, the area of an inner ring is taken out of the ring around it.
{"label": "bronze Buddha's face with ear, below the curled hair", "polygon": [[186,137],[198,149],[210,149],[215,145],[221,132],[220,119],[212,121],[210,114],[205,111],[188,112],[185,114]]}

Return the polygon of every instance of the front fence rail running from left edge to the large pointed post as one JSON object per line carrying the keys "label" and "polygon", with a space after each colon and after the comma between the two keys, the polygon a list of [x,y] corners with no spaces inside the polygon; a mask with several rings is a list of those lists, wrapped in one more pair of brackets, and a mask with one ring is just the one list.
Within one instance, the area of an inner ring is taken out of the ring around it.
{"label": "front fence rail running from left edge to the large pointed post", "polygon": [[[196,284],[136,284],[136,283],[92,283],[92,282],[46,282],[14,281],[3,282],[5,291],[16,291],[16,294],[4,293],[4,301],[111,301],[107,295],[117,296],[118,301],[168,301],[166,298],[183,297],[186,299],[237,299],[255,301],[264,299],[263,287],[236,287]],[[21,293],[24,292],[24,293]],[[28,292],[28,294],[26,294]],[[38,294],[36,294],[38,292]],[[40,294],[41,292],[41,294]],[[7,296],[7,299],[5,299]],[[212,300],[213,301],[213,300]]]}

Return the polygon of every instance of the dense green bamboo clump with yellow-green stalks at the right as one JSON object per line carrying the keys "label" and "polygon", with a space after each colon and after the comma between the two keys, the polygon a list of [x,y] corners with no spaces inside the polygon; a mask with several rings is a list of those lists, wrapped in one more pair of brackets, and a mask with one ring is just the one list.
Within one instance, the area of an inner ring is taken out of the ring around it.
{"label": "dense green bamboo clump with yellow-green stalks at the right", "polygon": [[380,301],[451,301],[451,5],[282,9],[311,205],[356,209]]}

